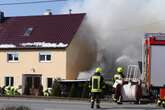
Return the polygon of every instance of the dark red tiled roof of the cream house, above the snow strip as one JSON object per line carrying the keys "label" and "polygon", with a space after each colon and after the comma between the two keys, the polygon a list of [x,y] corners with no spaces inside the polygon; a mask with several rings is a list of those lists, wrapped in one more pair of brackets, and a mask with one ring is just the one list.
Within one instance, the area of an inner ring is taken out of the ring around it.
{"label": "dark red tiled roof of the cream house, above the snow strip", "polygon": [[[0,23],[0,45],[48,42],[69,44],[77,32],[85,14],[43,15],[7,17]],[[33,28],[29,36],[25,31]]]}

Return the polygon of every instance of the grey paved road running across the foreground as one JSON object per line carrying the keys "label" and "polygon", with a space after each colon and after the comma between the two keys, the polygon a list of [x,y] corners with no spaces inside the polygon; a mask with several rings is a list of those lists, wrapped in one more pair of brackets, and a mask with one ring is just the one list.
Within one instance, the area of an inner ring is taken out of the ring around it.
{"label": "grey paved road running across the foreground", "polygon": [[[92,110],[88,101],[79,100],[63,100],[63,99],[12,99],[0,98],[0,108],[4,106],[28,106],[32,110]],[[160,110],[155,104],[131,104],[123,103],[117,105],[115,103],[103,102],[101,110]],[[96,109],[95,109],[96,110]],[[163,110],[163,109],[162,109]]]}

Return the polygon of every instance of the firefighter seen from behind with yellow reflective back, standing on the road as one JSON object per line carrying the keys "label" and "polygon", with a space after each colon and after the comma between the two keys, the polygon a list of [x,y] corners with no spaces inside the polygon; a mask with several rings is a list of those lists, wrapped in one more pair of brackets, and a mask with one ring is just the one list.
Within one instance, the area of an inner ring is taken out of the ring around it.
{"label": "firefighter seen from behind with yellow reflective back, standing on the road", "polygon": [[95,73],[91,76],[89,87],[91,89],[91,108],[94,108],[96,102],[96,108],[100,108],[100,99],[102,97],[102,89],[104,85],[104,78],[101,75],[102,69],[96,68]]}

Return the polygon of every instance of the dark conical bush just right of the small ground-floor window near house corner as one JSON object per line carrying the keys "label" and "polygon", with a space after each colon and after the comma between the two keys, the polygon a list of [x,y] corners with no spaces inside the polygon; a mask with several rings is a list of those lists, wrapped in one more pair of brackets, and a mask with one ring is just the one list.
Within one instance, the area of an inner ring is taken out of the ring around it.
{"label": "dark conical bush just right of the small ground-floor window near house corner", "polygon": [[60,96],[60,95],[61,95],[60,83],[58,82],[58,80],[55,79],[51,90],[51,96]]}

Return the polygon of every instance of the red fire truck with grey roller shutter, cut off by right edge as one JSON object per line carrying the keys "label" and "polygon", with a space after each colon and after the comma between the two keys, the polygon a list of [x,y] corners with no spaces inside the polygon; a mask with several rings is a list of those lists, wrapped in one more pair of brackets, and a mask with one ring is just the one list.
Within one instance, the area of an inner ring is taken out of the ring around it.
{"label": "red fire truck with grey roller shutter, cut off by right edge", "polygon": [[142,76],[149,96],[165,107],[165,33],[146,33]]}

